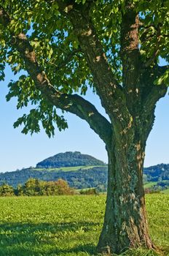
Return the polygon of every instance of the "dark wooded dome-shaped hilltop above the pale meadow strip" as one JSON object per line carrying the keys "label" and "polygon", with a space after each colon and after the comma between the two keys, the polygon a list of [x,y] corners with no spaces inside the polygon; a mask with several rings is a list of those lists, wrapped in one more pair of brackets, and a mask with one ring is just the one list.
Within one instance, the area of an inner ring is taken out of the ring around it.
{"label": "dark wooded dome-shaped hilltop above the pale meadow strip", "polygon": [[81,154],[79,151],[59,153],[53,157],[39,162],[37,168],[60,168],[74,166],[105,165],[101,160],[95,159],[88,154]]}

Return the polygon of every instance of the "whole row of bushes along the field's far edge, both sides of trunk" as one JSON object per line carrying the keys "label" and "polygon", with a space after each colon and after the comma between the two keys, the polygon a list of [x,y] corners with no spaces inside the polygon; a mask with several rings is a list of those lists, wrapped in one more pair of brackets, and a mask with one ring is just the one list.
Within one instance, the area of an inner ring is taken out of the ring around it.
{"label": "whole row of bushes along the field's far edge, both sides of trunk", "polygon": [[[159,181],[152,187],[146,188],[146,194],[160,192],[169,188],[169,181]],[[59,178],[58,181],[42,181],[38,178],[29,178],[24,185],[18,184],[12,187],[9,184],[0,186],[0,196],[34,196],[34,195],[98,195],[99,192],[105,192],[104,184],[98,185],[90,189],[81,189],[76,192],[75,189],[69,187],[67,181]]]}

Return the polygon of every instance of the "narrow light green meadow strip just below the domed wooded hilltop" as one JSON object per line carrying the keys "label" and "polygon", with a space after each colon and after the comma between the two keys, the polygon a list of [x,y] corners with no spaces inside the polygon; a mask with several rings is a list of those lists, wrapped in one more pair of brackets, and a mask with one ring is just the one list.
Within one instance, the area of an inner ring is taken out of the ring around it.
{"label": "narrow light green meadow strip just below the domed wooded hilltop", "polygon": [[88,170],[92,169],[93,167],[105,167],[106,165],[86,165],[86,166],[74,166],[74,167],[60,167],[60,168],[33,168],[33,170],[39,170],[39,171],[52,171],[52,172],[58,172],[58,171],[63,171],[63,172],[70,172],[70,171],[76,171],[76,170]]}

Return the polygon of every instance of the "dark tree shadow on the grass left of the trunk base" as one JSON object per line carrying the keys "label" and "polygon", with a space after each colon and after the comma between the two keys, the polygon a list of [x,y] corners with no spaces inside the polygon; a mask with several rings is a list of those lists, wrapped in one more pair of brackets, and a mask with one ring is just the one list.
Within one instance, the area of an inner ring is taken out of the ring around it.
{"label": "dark tree shadow on the grass left of the trunk base", "polygon": [[98,225],[95,222],[3,223],[0,255],[94,255],[90,236]]}

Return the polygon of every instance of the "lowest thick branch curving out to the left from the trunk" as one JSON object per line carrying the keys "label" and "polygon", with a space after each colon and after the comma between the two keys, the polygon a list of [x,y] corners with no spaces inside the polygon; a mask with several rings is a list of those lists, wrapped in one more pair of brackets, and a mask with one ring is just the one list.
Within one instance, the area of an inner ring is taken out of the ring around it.
{"label": "lowest thick branch curving out to the left from the trunk", "polygon": [[[4,20],[4,13],[4,10],[0,10],[0,23],[7,26],[9,19],[6,18],[7,14],[5,13]],[[1,20],[3,20],[3,23]],[[111,125],[105,117],[98,113],[94,105],[79,95],[60,93],[60,91],[57,91],[55,87],[52,86],[42,68],[39,67],[34,48],[28,42],[25,34],[20,33],[15,37],[12,35],[12,45],[18,50],[20,56],[25,61],[26,70],[34,80],[36,89],[41,91],[42,96],[57,108],[74,113],[76,116],[87,121],[90,127],[109,145]]]}

